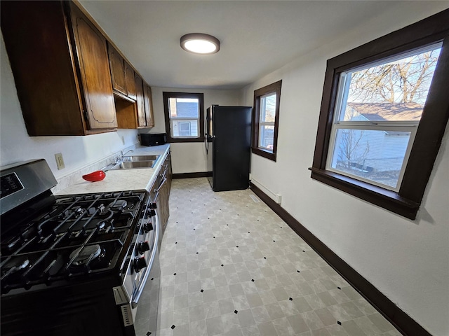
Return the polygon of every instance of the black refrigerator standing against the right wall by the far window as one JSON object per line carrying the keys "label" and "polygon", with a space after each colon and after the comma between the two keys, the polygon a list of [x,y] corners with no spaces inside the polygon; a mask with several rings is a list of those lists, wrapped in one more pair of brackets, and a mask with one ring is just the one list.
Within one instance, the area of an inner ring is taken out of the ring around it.
{"label": "black refrigerator standing against the right wall by the far window", "polygon": [[213,191],[249,188],[251,113],[247,106],[210,106],[205,145]]}

